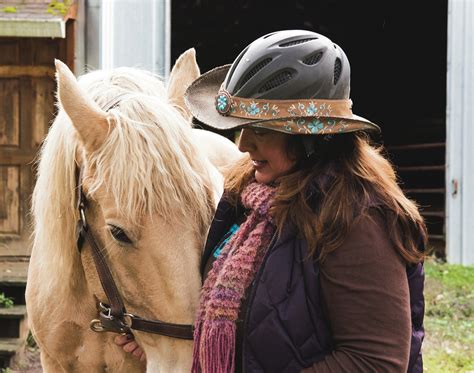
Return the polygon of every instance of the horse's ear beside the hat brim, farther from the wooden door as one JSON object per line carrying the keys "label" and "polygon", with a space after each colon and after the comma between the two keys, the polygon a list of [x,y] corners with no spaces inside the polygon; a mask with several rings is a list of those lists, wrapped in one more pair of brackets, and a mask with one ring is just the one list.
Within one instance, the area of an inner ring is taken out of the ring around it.
{"label": "horse's ear beside the hat brim, farther from the wooden door", "polygon": [[185,119],[191,120],[192,114],[184,103],[184,92],[191,83],[199,78],[201,72],[196,62],[196,51],[188,49],[176,60],[168,82],[168,101],[175,106]]}

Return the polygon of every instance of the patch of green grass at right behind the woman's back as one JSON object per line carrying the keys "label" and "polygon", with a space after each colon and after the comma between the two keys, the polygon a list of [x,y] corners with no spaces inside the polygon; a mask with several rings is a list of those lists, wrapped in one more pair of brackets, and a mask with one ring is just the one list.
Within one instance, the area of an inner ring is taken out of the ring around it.
{"label": "patch of green grass at right behind the woman's back", "polygon": [[474,267],[425,265],[425,372],[474,372]]}

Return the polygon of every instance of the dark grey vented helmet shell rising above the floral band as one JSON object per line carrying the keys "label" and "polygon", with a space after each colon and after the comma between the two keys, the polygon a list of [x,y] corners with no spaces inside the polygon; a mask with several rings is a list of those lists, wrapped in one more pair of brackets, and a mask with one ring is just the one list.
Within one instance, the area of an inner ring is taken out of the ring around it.
{"label": "dark grey vented helmet shell rising above the floral band", "polygon": [[343,50],[321,34],[273,32],[240,53],[224,88],[247,98],[347,99],[350,65]]}

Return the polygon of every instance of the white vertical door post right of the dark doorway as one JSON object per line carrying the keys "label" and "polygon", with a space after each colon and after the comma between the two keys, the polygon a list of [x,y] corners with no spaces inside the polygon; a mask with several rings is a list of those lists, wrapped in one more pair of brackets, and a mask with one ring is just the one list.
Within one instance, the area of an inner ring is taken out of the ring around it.
{"label": "white vertical door post right of the dark doorway", "polygon": [[474,264],[474,2],[448,2],[446,251]]}

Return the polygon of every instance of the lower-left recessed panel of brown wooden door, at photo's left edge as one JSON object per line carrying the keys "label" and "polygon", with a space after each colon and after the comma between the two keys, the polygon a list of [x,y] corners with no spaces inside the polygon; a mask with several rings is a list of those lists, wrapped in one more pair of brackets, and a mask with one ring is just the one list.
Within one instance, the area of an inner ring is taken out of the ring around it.
{"label": "lower-left recessed panel of brown wooden door, at photo's left edge", "polygon": [[0,166],[0,234],[20,234],[20,169]]}

